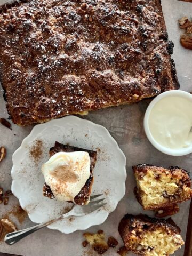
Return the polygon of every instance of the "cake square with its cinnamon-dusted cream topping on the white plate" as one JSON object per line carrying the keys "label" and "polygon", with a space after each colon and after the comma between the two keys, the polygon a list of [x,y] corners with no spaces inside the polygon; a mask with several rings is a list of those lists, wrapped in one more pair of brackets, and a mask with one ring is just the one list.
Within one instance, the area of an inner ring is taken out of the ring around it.
{"label": "cake square with its cinnamon-dusted cream topping on the white plate", "polygon": [[89,203],[97,152],[55,142],[42,166],[43,195],[75,204]]}

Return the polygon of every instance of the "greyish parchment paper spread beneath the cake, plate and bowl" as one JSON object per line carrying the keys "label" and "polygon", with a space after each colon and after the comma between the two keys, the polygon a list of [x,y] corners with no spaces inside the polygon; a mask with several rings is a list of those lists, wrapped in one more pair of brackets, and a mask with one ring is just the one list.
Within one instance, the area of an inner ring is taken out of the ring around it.
{"label": "greyish parchment paper spread beneath the cake, plate and bowl", "polygon": [[[5,2],[6,1],[4,0],[0,0],[0,4]],[[178,27],[178,19],[183,17],[183,15],[187,15],[189,18],[192,18],[192,4],[177,0],[162,0],[162,5],[169,38],[175,45],[173,59],[176,63],[181,90],[190,92],[192,91],[192,51],[186,50],[180,46],[179,38],[182,31]],[[178,165],[183,169],[189,170],[190,172],[192,171],[192,154],[183,157],[164,155],[156,150],[146,138],[145,132],[143,131],[143,115],[145,114],[145,110],[149,102],[150,100],[144,100],[137,105],[99,110],[83,117],[105,126],[116,139],[119,147],[124,151],[127,158],[125,197],[121,202],[119,202],[116,211],[109,215],[107,221],[103,223],[103,225],[89,229],[89,231],[93,232],[102,229],[105,231],[107,236],[113,235],[118,239],[119,246],[122,246],[123,243],[119,237],[117,228],[120,219],[125,213],[146,213],[153,215],[150,211],[143,211],[142,207],[133,195],[135,181],[132,174],[132,165],[140,163],[163,165],[165,167]],[[0,117],[7,118],[2,88],[0,92]],[[33,126],[22,128],[17,125],[12,125],[12,127],[13,130],[11,131],[2,125],[0,126],[0,146],[4,145],[7,148],[7,157],[0,166],[0,185],[5,189],[10,189],[11,187],[12,179],[10,172],[12,167],[12,154],[20,146],[23,138],[25,138],[33,128]],[[17,204],[17,199],[12,197],[9,205],[0,205],[1,215],[12,209],[12,207]],[[187,229],[189,204],[190,202],[182,203],[182,205],[180,205],[180,212],[173,216],[173,220],[182,230],[181,235],[184,239]],[[28,218],[22,223],[22,225],[20,225],[16,219],[13,218],[13,220],[18,224],[19,228],[25,228],[33,225]],[[0,252],[20,254],[23,256],[98,255],[87,248],[83,249],[81,245],[83,241],[82,234],[83,231],[76,231],[73,234],[64,235],[59,231],[44,228],[13,246],[1,243]],[[117,246],[117,248],[119,246]],[[116,251],[117,249],[110,249],[104,255],[117,255]],[[174,255],[182,256],[183,251],[184,247],[178,250]],[[129,253],[129,255],[133,254]]]}

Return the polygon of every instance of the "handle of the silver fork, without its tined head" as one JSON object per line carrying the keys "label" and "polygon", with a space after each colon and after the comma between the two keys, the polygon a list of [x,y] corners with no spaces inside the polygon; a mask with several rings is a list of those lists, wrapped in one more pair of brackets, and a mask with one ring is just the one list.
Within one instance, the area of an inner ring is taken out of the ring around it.
{"label": "handle of the silver fork, without its tined head", "polygon": [[41,228],[44,228],[44,227],[54,223],[55,221],[61,220],[63,218],[69,217],[69,216],[70,216],[70,214],[66,213],[66,214],[63,214],[63,215],[53,219],[53,220],[40,223],[40,224],[35,225],[33,227],[26,228],[26,229],[21,229],[21,230],[18,230],[18,231],[14,231],[12,233],[7,234],[5,236],[4,241],[5,241],[6,244],[9,244],[9,245],[15,244],[15,243],[19,242],[22,238],[34,233],[35,231],[37,231]]}

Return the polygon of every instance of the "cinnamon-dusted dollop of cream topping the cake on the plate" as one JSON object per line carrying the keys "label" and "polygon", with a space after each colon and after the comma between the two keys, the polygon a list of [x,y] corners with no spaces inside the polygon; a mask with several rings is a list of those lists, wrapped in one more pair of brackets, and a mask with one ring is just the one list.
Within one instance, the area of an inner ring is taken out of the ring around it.
{"label": "cinnamon-dusted dollop of cream topping the cake on the plate", "polygon": [[74,202],[90,177],[90,156],[87,152],[59,152],[42,165],[45,182],[55,199]]}

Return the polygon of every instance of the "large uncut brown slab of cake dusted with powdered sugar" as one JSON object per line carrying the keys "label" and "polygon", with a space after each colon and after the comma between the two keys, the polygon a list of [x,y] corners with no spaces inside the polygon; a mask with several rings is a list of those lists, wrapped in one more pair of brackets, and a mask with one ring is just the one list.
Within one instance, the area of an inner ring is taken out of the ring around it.
{"label": "large uncut brown slab of cake dusted with powdered sugar", "polygon": [[18,0],[0,8],[13,123],[29,125],[179,89],[160,0]]}

